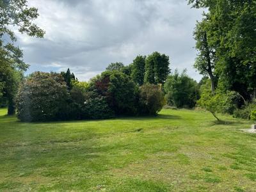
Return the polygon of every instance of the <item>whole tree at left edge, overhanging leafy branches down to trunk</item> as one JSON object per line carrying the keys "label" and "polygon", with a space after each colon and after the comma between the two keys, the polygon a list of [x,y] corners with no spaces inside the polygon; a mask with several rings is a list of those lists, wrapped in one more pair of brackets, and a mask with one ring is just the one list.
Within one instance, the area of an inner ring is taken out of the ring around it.
{"label": "whole tree at left edge, overhanging leafy branches down to trunk", "polygon": [[29,67],[22,60],[22,50],[14,45],[17,39],[12,29],[15,27],[20,33],[43,37],[44,31],[33,24],[37,17],[38,10],[29,7],[26,0],[0,0],[0,63],[6,66],[0,68],[0,95],[8,97],[8,115],[15,113],[13,91],[17,89],[8,88],[6,85],[15,87],[18,80],[17,71],[23,72]]}

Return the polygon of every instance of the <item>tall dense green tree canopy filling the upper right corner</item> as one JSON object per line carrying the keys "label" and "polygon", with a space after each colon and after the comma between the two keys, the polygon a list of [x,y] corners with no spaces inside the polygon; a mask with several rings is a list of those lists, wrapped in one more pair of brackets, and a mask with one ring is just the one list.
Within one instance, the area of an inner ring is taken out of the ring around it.
{"label": "tall dense green tree canopy filling the upper right corner", "polygon": [[228,90],[256,96],[256,1],[189,0],[207,8],[207,41],[216,51],[215,71]]}

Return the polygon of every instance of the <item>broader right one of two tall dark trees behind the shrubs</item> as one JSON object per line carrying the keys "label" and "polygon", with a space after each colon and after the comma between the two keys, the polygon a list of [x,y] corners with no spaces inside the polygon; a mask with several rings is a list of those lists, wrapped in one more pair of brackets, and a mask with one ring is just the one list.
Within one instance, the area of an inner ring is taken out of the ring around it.
{"label": "broader right one of two tall dark trees behind the shrubs", "polygon": [[144,82],[150,84],[164,84],[170,74],[169,57],[159,52],[153,52],[145,61]]}

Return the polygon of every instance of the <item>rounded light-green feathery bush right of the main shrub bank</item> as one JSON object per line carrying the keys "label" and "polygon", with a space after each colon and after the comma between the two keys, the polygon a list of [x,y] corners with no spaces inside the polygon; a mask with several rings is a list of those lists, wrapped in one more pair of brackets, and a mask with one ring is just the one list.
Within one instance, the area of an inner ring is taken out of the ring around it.
{"label": "rounded light-green feathery bush right of the main shrub bank", "polygon": [[168,76],[164,91],[167,103],[177,108],[193,108],[199,97],[198,84],[188,77],[186,70],[182,74],[176,70],[172,76]]}

